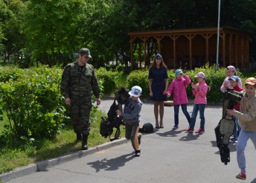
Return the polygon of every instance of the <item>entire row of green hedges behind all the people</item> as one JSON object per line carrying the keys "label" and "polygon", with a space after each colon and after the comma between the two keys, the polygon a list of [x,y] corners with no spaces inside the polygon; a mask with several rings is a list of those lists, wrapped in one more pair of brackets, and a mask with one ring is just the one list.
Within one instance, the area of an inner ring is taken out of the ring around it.
{"label": "entire row of green hedges behind all the people", "polygon": [[[215,66],[196,68],[192,71],[184,71],[195,83],[194,75],[203,71],[211,87],[208,92],[208,102],[220,103],[222,92],[220,86],[225,79],[225,68],[215,71]],[[101,94],[112,94],[123,80],[122,71],[107,71],[106,68],[95,70],[99,80]],[[0,120],[3,114],[7,115],[8,124],[4,131],[0,132],[0,144],[13,144],[13,141],[20,143],[21,137],[28,141],[30,138],[54,138],[63,126],[67,118],[68,106],[65,106],[63,96],[60,94],[60,80],[63,69],[40,68],[20,69],[16,67],[0,66]],[[168,71],[169,85],[174,79],[174,70]],[[244,81],[243,75],[238,74]],[[149,97],[148,69],[132,71],[127,76],[127,89],[132,86],[141,86],[144,98]],[[118,83],[119,82],[119,83]],[[125,83],[125,82],[124,82]],[[118,84],[118,85],[117,85]],[[191,85],[187,87],[187,94],[193,99]],[[95,97],[92,98],[92,103]],[[95,111],[92,109],[92,122],[95,120]],[[6,122],[6,121],[5,121]],[[68,121],[70,123],[70,121]]]}

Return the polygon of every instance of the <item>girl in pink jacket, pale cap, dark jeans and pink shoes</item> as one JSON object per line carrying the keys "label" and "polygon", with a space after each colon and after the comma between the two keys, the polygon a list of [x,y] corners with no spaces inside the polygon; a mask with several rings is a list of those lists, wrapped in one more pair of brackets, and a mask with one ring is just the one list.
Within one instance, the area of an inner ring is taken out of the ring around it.
{"label": "girl in pink jacket, pale cap, dark jeans and pink shoes", "polygon": [[188,129],[185,129],[187,132],[193,132],[193,128],[196,123],[196,116],[199,111],[200,114],[200,128],[196,131],[196,133],[205,132],[205,106],[207,104],[206,94],[209,90],[209,86],[207,85],[206,77],[203,72],[199,72],[196,74],[196,80],[198,83],[191,83],[192,92],[195,96],[194,104],[193,104],[193,112],[191,115],[191,124]]}

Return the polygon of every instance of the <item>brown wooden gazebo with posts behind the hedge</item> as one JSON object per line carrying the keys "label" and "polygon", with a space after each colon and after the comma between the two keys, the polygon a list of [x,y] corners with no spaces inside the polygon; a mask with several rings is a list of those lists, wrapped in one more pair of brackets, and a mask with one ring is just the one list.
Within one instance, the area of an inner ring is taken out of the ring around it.
{"label": "brown wooden gazebo with posts behind the hedge", "polygon": [[[156,53],[168,68],[192,69],[216,63],[217,28],[130,32],[131,65],[148,67]],[[137,57],[135,57],[134,53]],[[144,59],[143,59],[144,58]],[[234,28],[220,28],[220,66],[249,67],[249,33]]]}

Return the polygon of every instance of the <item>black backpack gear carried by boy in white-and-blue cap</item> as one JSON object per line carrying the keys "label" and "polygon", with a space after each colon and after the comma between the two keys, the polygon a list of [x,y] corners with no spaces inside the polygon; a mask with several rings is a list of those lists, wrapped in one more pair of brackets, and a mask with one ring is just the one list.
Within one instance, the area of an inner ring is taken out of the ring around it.
{"label": "black backpack gear carried by boy in white-and-blue cap", "polygon": [[[109,112],[107,113],[107,118],[101,117],[100,135],[102,135],[104,138],[109,136],[110,141],[114,141],[115,139],[118,139],[121,134],[120,126],[121,124],[124,125],[124,122],[123,122],[123,118],[118,117],[118,115],[116,114],[116,110],[119,109],[118,105],[127,103],[128,97],[129,97],[129,92],[127,92],[126,89],[124,88],[118,89],[115,92],[115,100],[110,106]],[[116,100],[118,100],[118,103],[116,103]],[[110,135],[112,135],[114,128],[116,129],[115,136],[113,138],[110,138]]]}

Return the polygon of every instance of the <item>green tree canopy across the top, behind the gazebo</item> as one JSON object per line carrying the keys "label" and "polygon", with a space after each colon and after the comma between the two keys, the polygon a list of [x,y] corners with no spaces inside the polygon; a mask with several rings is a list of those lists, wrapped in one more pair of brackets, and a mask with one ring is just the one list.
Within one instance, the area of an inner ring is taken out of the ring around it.
{"label": "green tree canopy across the top, behind the gazebo", "polygon": [[[29,64],[65,65],[82,47],[94,64],[129,58],[130,31],[217,27],[218,1],[0,0],[0,53]],[[256,1],[222,0],[220,26],[252,33],[256,59]]]}

